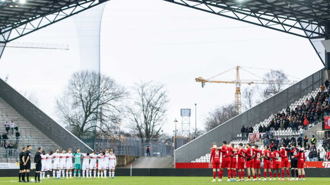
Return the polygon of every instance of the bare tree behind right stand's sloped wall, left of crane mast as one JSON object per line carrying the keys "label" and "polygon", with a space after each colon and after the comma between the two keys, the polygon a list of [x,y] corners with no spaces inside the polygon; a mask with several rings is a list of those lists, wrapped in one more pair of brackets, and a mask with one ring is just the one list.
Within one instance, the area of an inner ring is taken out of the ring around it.
{"label": "bare tree behind right stand's sloped wall, left of crane mast", "polygon": [[234,103],[218,106],[204,117],[205,130],[212,130],[237,115]]}

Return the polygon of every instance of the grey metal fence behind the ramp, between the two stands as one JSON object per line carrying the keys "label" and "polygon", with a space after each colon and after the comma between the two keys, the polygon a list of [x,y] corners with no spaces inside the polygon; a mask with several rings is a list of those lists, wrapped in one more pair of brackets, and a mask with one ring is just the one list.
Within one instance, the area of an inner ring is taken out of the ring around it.
{"label": "grey metal fence behind the ramp, between the two stands", "polygon": [[[177,138],[177,148],[188,143],[188,138]],[[84,139],[88,143],[94,143],[94,140]],[[96,139],[95,150],[114,149],[115,155],[132,155],[147,156],[147,147],[150,147],[150,156],[171,156],[175,148],[173,138],[157,138],[157,139],[137,139],[132,137],[124,137],[120,139]],[[148,154],[149,155],[149,154]]]}

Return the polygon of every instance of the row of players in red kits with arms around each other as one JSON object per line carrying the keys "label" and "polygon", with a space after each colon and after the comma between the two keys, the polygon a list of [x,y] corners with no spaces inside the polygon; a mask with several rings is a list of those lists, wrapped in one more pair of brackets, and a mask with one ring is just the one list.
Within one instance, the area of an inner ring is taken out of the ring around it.
{"label": "row of players in red kits with arms around each other", "polygon": [[[213,181],[215,182],[216,171],[218,172],[218,181],[222,181],[223,169],[228,170],[228,182],[236,181],[236,168],[238,169],[239,179],[237,181],[244,181],[245,167],[248,172],[248,179],[250,181],[252,171],[252,181],[257,180],[257,172],[259,180],[261,180],[260,166],[263,159],[264,179],[267,177],[267,170],[269,172],[269,180],[276,180],[276,174],[278,174],[278,180],[284,180],[284,170],[286,169],[287,180],[305,180],[305,154],[304,150],[300,150],[300,146],[294,146],[290,144],[288,148],[285,143],[281,145],[280,151],[277,147],[273,147],[273,152],[269,149],[269,146],[265,146],[265,150],[259,150],[258,145],[251,147],[250,143],[246,144],[246,149],[243,148],[243,144],[240,143],[239,148],[234,147],[235,144],[231,143],[227,146],[227,142],[222,142],[222,147],[217,147],[216,143],[212,144],[210,163],[213,168]],[[290,163],[289,163],[290,158]],[[220,168],[221,162],[221,168]],[[272,179],[273,168],[274,178]],[[291,168],[292,178],[290,179],[289,168]],[[221,169],[221,170],[220,170]],[[280,173],[282,170],[282,174]],[[294,173],[296,172],[296,179],[294,179]],[[301,176],[303,178],[301,178]]]}

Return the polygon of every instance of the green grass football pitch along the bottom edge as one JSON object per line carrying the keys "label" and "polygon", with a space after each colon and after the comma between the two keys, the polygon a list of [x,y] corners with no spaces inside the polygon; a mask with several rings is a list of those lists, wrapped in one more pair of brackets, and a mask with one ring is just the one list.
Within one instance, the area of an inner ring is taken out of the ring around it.
{"label": "green grass football pitch along the bottom edge", "polygon": [[[31,178],[31,177],[30,177]],[[34,178],[34,177],[32,177]],[[245,178],[247,179],[247,178]],[[263,178],[262,178],[263,179]],[[267,181],[256,181],[256,182],[226,182],[227,178],[222,178],[222,182],[211,182],[212,177],[168,177],[168,176],[118,176],[114,179],[49,179],[49,180],[43,180],[42,184],[60,184],[60,185],[66,185],[66,184],[103,184],[103,183],[110,183],[110,184],[120,184],[120,185],[126,185],[126,184],[175,184],[175,185],[181,185],[181,184],[299,184],[299,185],[312,185],[312,184],[330,184],[330,178],[306,178],[304,181],[269,181],[267,178]],[[18,177],[0,177],[0,184],[4,185],[10,185],[10,184],[22,184],[21,182],[18,182]]]}

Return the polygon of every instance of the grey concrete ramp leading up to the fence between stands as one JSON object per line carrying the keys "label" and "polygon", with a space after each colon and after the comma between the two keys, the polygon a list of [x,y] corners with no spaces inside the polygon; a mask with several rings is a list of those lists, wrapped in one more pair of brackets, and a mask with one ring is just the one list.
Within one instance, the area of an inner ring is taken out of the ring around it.
{"label": "grey concrete ramp leading up to the fence between stands", "polygon": [[[131,168],[131,165],[120,168]],[[132,168],[173,168],[173,157],[138,157],[132,161]]]}

